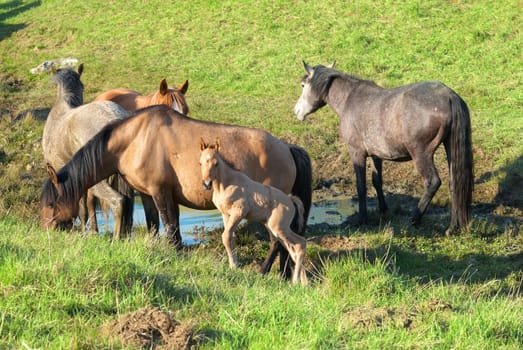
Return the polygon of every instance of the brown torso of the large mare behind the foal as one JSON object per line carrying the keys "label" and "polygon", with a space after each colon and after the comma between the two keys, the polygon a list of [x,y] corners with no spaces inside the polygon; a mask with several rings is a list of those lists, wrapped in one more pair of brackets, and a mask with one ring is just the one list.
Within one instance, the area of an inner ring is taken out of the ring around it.
{"label": "brown torso of the large mare behind the foal", "polygon": [[211,193],[203,189],[200,178],[200,138],[219,139],[220,153],[233,168],[290,193],[296,177],[290,149],[259,129],[200,121],[157,105],[115,128],[108,147],[120,153],[121,171],[135,174],[132,185],[142,192],[163,184],[180,204],[211,209]]}

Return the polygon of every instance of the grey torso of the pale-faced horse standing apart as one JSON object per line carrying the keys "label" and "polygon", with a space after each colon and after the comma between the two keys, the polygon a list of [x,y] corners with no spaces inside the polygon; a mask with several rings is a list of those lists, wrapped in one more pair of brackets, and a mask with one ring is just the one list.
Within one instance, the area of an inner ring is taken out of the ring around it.
{"label": "grey torso of the pale-faced horse standing apart", "polygon": [[393,89],[363,86],[345,108],[342,137],[369,156],[410,160],[416,149],[435,149],[448,133],[451,93],[437,81]]}

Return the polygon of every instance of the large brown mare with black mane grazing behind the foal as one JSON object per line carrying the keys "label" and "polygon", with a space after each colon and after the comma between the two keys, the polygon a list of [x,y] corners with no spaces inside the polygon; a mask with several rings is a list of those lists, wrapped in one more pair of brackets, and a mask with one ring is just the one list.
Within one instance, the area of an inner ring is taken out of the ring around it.
{"label": "large brown mare with black mane grazing behind the foal", "polygon": [[[179,207],[215,209],[212,193],[204,191],[199,176],[199,140],[219,137],[227,144],[221,154],[253,180],[292,193],[303,202],[307,219],[312,199],[310,158],[301,147],[278,140],[266,131],[189,118],[167,106],[157,105],[130,118],[108,125],[56,172],[43,187],[41,214],[44,220],[68,220],[77,212],[77,200],[87,188],[112,174],[121,174],[136,190],[151,196],[171,242],[181,246]],[[303,231],[300,231],[301,234]],[[280,269],[286,251],[275,239],[262,264],[268,272],[277,252]],[[285,268],[285,274],[289,274]]]}

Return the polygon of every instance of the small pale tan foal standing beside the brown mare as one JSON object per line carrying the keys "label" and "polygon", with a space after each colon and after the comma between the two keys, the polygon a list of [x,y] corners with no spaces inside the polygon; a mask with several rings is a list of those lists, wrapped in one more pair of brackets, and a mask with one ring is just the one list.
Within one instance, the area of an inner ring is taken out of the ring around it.
{"label": "small pale tan foal standing beside the brown mare", "polygon": [[[231,145],[231,147],[234,147]],[[262,223],[269,234],[274,235],[287,249],[294,261],[292,281],[307,284],[303,269],[306,241],[291,229],[298,215],[298,226],[303,224],[303,204],[294,195],[251,180],[247,175],[233,169],[220,156],[220,143],[208,145],[200,140],[200,166],[204,189],[212,190],[212,202],[222,213],[222,242],[229,257],[229,266],[236,268],[238,261],[234,253],[234,231],[241,220]]]}

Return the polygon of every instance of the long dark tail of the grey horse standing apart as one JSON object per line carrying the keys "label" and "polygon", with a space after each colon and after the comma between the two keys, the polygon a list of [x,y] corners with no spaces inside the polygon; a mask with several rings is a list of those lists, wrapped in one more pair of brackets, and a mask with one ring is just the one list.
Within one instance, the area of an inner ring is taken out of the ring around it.
{"label": "long dark tail of the grey horse standing apart", "polygon": [[467,104],[456,93],[450,97],[450,191],[452,196],[449,230],[466,227],[470,219],[474,171],[470,115]]}

